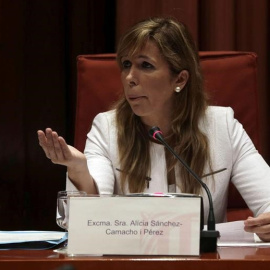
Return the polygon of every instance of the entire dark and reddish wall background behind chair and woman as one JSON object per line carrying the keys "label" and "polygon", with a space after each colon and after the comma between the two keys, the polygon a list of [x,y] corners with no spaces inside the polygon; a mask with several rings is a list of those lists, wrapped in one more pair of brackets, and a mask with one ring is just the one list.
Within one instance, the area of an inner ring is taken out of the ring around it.
{"label": "entire dark and reddish wall background behind chair and woman", "polygon": [[258,54],[261,153],[270,164],[269,13],[267,0],[0,0],[0,230],[59,230],[66,169],[45,157],[36,131],[52,127],[73,144],[76,56],[115,52],[119,36],[149,16],[184,21],[199,50]]}

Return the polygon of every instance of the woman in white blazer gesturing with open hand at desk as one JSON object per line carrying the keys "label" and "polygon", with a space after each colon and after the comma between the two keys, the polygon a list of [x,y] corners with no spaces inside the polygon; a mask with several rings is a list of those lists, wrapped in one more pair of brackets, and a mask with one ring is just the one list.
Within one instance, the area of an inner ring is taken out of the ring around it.
{"label": "woman in white blazer gesturing with open hand at desk", "polygon": [[232,109],[208,106],[198,54],[185,26],[163,18],[136,24],[120,40],[117,62],[124,96],[113,110],[96,116],[84,154],[55,131],[38,131],[47,157],[67,166],[67,188],[102,194],[202,194],[208,213],[198,182],[149,138],[148,130],[158,126],[209,186],[216,221],[225,221],[231,180],[256,216],[245,221],[246,231],[270,240],[269,166]]}

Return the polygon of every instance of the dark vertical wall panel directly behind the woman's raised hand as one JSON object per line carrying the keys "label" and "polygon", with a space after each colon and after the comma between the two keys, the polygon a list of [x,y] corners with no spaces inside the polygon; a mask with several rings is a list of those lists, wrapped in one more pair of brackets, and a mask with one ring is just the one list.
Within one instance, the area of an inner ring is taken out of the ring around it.
{"label": "dark vertical wall panel directly behind the woman's raised hand", "polygon": [[65,5],[26,1],[24,16],[24,227],[60,229],[55,223],[56,194],[65,188],[66,169],[45,157],[36,131],[51,127],[66,136]]}

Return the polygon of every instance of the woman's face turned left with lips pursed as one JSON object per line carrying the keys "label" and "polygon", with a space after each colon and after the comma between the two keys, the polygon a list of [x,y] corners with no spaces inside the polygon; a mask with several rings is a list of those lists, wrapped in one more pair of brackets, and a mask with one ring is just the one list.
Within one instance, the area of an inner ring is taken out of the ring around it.
{"label": "woman's face turned left with lips pursed", "polygon": [[134,56],[122,57],[121,63],[121,80],[133,112],[146,124],[151,119],[170,116],[177,76],[172,78],[155,43],[148,41]]}

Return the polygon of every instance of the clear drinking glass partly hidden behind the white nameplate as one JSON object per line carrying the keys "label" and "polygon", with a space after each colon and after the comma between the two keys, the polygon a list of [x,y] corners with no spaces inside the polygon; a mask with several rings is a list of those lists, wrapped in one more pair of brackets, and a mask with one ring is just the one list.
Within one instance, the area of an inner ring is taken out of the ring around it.
{"label": "clear drinking glass partly hidden behind the white nameplate", "polygon": [[[85,197],[86,195],[87,193],[85,191],[80,190],[58,191],[57,207],[56,207],[56,223],[66,232],[68,232],[68,222],[69,222],[69,198]],[[63,247],[56,249],[55,251],[59,253],[66,253],[67,241],[64,243]]]}

